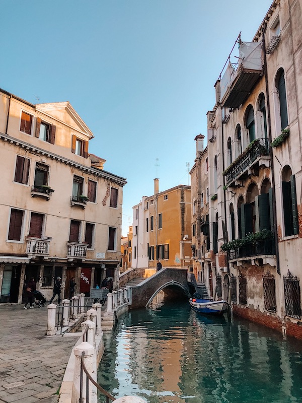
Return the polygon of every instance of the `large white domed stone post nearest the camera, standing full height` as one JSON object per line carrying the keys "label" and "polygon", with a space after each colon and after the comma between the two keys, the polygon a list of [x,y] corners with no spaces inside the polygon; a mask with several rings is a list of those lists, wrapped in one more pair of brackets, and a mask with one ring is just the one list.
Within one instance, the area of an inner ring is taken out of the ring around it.
{"label": "large white domed stone post nearest the camera, standing full height", "polygon": [[[73,388],[72,388],[72,401],[82,401],[82,403],[86,403],[86,373],[83,370],[83,382],[82,382],[82,400],[80,400],[80,389],[81,389],[81,357],[82,353],[85,352],[85,356],[83,357],[83,361],[85,367],[89,374],[93,372],[93,355],[95,352],[94,347],[87,343],[83,342],[79,344],[79,346],[74,348],[75,362],[74,362],[74,372],[73,372]],[[92,391],[92,383],[89,385],[89,400],[91,401],[91,391]]]}

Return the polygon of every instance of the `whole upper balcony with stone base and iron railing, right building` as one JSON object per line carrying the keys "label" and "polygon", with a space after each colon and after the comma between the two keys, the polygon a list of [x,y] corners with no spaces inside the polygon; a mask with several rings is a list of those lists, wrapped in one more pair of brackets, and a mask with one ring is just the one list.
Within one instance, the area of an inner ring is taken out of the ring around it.
{"label": "whole upper balcony with stone base and iron railing, right building", "polygon": [[[223,172],[226,185],[232,186],[236,180],[244,180],[259,166],[269,167],[268,140],[254,140],[244,152]],[[255,172],[253,173],[255,176]]]}

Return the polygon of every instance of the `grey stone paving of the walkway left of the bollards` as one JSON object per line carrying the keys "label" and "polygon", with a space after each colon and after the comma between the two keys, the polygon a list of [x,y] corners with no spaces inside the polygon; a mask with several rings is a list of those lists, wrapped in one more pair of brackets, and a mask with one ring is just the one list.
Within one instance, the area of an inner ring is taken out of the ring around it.
{"label": "grey stone paving of the walkway left of the bollards", "polygon": [[0,305],[0,403],[57,403],[77,338],[45,336],[47,306]]}

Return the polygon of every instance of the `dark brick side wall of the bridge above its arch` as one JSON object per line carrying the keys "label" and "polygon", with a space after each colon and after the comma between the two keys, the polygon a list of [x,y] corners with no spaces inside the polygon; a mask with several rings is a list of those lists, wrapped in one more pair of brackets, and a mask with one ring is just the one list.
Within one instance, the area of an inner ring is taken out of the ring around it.
{"label": "dark brick side wall of the bridge above its arch", "polygon": [[154,276],[150,277],[138,286],[132,287],[132,305],[131,309],[142,308],[146,306],[149,298],[161,288],[164,284],[174,280],[181,283],[188,290],[187,270],[178,268],[162,268]]}

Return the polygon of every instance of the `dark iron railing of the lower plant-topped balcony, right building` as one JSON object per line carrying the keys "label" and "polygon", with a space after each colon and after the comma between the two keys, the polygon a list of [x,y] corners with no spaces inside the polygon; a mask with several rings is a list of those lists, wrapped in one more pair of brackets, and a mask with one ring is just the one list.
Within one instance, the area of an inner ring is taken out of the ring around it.
{"label": "dark iron railing of the lower plant-topped balcony, right building", "polygon": [[275,255],[275,241],[273,239],[264,239],[262,241],[248,242],[239,248],[228,252],[229,260],[239,259],[241,257],[252,257],[260,255]]}

